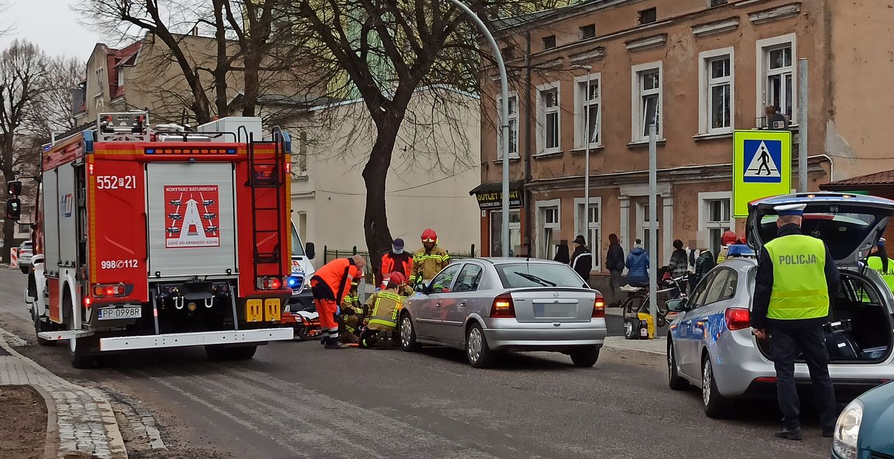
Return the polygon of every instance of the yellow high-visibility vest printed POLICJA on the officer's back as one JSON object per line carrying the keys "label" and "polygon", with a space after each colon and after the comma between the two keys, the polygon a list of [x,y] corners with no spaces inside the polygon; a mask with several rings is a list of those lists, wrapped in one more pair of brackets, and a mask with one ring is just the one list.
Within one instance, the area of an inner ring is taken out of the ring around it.
{"label": "yellow high-visibility vest printed POLICJA on the officer's back", "polygon": [[793,234],[765,246],[773,264],[768,319],[792,321],[829,315],[826,246],[822,240]]}

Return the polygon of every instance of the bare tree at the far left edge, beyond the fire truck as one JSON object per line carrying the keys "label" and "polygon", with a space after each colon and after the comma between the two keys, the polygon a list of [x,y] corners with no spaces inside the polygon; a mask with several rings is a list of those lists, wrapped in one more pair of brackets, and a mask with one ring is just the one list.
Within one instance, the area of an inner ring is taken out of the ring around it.
{"label": "bare tree at the far left edge, beyond the fire truck", "polygon": [[[21,147],[20,136],[31,133],[33,113],[39,100],[49,90],[46,74],[49,62],[38,46],[16,40],[0,54],[0,170],[4,180],[16,179],[21,166],[34,163],[30,157],[37,149]],[[4,184],[4,195],[6,193]],[[15,222],[4,221],[4,261],[9,260],[13,244]]]}

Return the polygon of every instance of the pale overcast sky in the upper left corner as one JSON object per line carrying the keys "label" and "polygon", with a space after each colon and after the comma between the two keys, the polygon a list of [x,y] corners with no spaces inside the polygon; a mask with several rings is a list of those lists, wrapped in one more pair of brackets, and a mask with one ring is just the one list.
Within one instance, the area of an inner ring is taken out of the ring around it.
{"label": "pale overcast sky in the upper left corner", "polygon": [[[37,44],[50,55],[68,55],[87,61],[93,46],[103,41],[96,32],[78,22],[72,11],[76,0],[6,0],[0,26],[9,31],[0,37],[0,49],[15,38]],[[113,45],[114,43],[109,43]]]}

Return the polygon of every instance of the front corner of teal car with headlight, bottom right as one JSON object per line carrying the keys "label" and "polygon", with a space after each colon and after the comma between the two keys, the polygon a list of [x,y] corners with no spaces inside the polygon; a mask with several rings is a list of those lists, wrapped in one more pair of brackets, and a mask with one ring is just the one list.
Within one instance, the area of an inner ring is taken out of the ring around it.
{"label": "front corner of teal car with headlight, bottom right", "polygon": [[894,382],[873,388],[845,407],[835,424],[831,457],[894,457]]}

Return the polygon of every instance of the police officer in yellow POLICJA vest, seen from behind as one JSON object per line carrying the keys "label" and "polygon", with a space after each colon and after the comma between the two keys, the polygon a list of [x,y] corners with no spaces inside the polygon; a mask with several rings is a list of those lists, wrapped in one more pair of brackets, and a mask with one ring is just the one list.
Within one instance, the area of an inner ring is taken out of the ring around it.
{"label": "police officer in yellow POLICJA vest, seen from behind", "polygon": [[757,259],[751,327],[758,339],[769,336],[776,367],[776,394],[782,412],[777,437],[804,438],[795,387],[795,357],[803,353],[820,412],[822,436],[835,428],[835,391],[829,378],[829,351],[822,326],[829,315],[830,292],[838,292],[839,271],[829,248],[801,234],[805,204],[774,207],[777,238]]}

